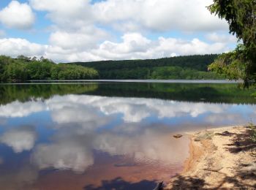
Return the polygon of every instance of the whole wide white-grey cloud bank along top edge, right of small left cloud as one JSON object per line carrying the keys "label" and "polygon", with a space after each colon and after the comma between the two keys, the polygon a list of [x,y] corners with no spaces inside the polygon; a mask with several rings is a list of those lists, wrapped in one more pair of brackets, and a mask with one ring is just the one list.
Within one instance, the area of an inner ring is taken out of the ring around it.
{"label": "whole wide white-grey cloud bank along top edge, right of small left cloud", "polygon": [[29,2],[34,9],[48,12],[48,18],[61,28],[80,28],[95,23],[121,28],[118,23],[123,26],[125,23],[129,31],[140,26],[151,31],[227,30],[227,23],[206,9],[212,4],[211,0],[108,0],[94,4],[89,0]]}

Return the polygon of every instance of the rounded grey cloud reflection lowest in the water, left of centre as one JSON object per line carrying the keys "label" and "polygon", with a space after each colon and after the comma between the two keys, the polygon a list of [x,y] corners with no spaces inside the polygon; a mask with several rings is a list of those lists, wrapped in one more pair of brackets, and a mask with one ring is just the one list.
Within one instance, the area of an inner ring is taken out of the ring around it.
{"label": "rounded grey cloud reflection lowest in the water, left of centre", "polygon": [[59,170],[83,172],[94,164],[93,153],[83,141],[63,139],[49,145],[38,145],[33,153],[33,161],[40,169],[53,167]]}

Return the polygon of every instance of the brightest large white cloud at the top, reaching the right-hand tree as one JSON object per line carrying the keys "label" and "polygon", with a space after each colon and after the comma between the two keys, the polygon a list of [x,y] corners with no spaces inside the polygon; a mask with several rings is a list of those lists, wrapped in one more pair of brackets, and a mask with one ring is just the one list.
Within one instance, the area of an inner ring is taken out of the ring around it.
{"label": "brightest large white cloud at the top, reaching the right-hand tree", "polygon": [[93,9],[101,23],[132,21],[153,31],[226,30],[227,23],[206,9],[212,3],[211,0],[108,0],[94,4]]}

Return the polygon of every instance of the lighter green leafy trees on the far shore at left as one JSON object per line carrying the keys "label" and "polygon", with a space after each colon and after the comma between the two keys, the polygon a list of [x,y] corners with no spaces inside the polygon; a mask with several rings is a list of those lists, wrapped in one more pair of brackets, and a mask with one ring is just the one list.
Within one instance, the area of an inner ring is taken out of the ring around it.
{"label": "lighter green leafy trees on the far shore at left", "polygon": [[99,73],[84,66],[55,64],[47,58],[10,58],[0,56],[0,82],[25,80],[78,80],[97,79]]}

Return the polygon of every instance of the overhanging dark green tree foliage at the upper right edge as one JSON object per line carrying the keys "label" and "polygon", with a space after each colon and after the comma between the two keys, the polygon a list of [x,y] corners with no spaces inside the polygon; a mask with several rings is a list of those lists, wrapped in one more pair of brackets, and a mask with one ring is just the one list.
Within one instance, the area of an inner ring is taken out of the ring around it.
{"label": "overhanging dark green tree foliage at the upper right edge", "polygon": [[[227,75],[231,79],[243,79],[245,83],[255,80],[256,73],[256,1],[214,0],[208,9],[224,18],[230,33],[236,34],[243,45],[231,53],[224,53],[209,69]],[[222,69],[224,66],[224,69]]]}

